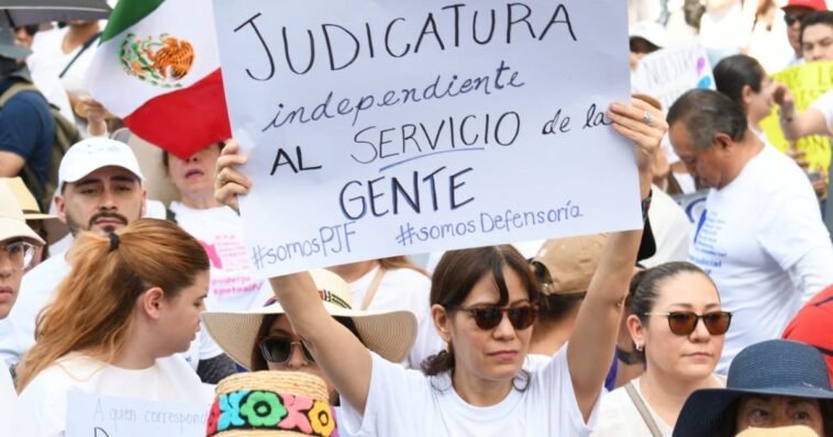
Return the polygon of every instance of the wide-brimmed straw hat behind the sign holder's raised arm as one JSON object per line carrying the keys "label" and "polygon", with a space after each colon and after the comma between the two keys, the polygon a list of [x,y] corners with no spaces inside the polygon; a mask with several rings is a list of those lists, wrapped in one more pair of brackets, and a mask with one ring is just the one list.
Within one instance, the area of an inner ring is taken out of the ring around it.
{"label": "wide-brimmed straw hat behind the sign holder's raised arm", "polygon": [[[349,285],[337,274],[310,270],[324,309],[334,317],[349,317],[356,325],[359,340],[388,361],[402,361],[416,339],[416,317],[409,311],[353,310]],[[206,312],[202,321],[211,337],[233,360],[252,369],[252,350],[265,316],[284,314],[277,302],[247,312]]]}

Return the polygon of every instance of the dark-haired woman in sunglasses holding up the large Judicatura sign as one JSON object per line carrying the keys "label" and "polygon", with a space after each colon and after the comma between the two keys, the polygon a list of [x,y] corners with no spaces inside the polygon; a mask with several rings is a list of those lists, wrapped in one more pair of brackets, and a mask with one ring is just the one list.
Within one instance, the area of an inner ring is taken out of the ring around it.
{"label": "dark-haired woman in sunglasses holding up the large Judicatura sign", "polygon": [[[667,131],[660,111],[634,99],[614,103],[613,128],[635,143],[643,212],[651,167]],[[251,180],[230,145],[218,160],[215,195],[236,204]],[[644,214],[643,214],[644,215]],[[447,349],[426,374],[373,354],[321,304],[309,273],[273,278],[292,327],[337,389],[342,429],[373,436],[588,435],[608,373],[642,229],[611,234],[569,346],[548,365],[522,370],[535,321],[537,282],[509,246],[447,253],[431,287],[432,317]]]}

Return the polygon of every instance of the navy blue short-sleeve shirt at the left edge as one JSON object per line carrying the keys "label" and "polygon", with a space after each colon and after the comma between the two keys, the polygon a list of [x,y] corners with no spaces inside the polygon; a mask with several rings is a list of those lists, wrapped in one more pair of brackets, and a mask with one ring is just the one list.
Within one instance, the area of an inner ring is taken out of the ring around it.
{"label": "navy blue short-sleeve shirt at the left edge", "polygon": [[[0,94],[20,81],[18,78],[0,80]],[[40,93],[21,91],[0,110],[0,150],[22,157],[41,183],[46,182],[54,137],[55,120]]]}

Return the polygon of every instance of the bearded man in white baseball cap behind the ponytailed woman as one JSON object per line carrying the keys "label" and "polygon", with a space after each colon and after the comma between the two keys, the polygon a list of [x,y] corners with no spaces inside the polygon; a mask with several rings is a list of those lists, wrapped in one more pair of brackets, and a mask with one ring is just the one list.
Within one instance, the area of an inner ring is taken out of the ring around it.
{"label": "bearded man in white baseball cap behind the ponytailed woman", "polygon": [[[124,143],[93,137],[73,145],[60,163],[58,180],[59,192],[55,195],[58,218],[73,235],[82,231],[99,235],[118,233],[144,215],[144,178],[133,150]],[[16,363],[34,344],[37,314],[69,270],[65,254],[56,254],[24,278],[21,288],[24,299],[9,320],[0,322],[0,359],[7,365]],[[215,366],[220,361],[225,369],[220,371],[222,376],[233,371],[233,363],[204,330],[185,358],[195,370],[206,367],[201,377],[218,371]]]}

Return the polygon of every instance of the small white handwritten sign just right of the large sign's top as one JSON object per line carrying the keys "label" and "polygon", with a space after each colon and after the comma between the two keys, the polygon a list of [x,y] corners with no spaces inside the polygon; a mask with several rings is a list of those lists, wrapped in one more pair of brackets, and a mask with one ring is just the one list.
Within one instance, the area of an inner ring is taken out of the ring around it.
{"label": "small white handwritten sign just right of the large sign's top", "polygon": [[686,91],[693,88],[714,89],[709,57],[699,43],[668,47],[640,59],[631,72],[633,92],[651,96],[668,109]]}

